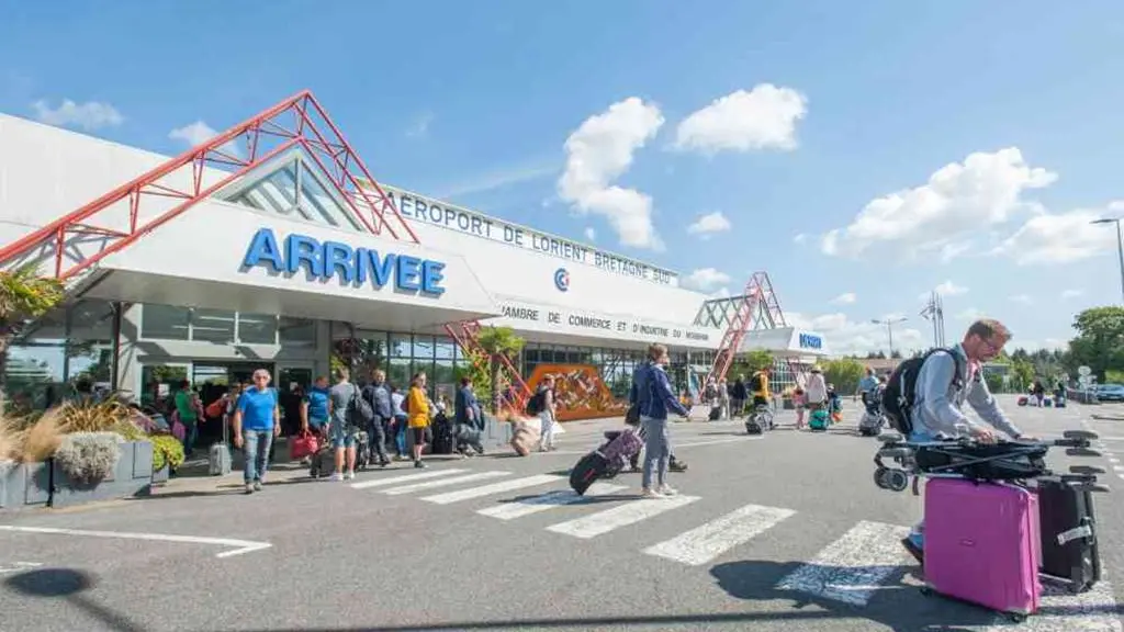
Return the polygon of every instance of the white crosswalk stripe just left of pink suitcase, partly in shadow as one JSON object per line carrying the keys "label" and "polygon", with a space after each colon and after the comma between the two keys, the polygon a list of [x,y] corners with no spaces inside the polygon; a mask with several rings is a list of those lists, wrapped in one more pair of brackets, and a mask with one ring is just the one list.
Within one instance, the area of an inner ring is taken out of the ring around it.
{"label": "white crosswalk stripe just left of pink suitcase, partly in shadow", "polygon": [[860,522],[819,551],[810,563],[781,579],[777,589],[864,606],[907,558],[901,539],[908,534],[905,526]]}

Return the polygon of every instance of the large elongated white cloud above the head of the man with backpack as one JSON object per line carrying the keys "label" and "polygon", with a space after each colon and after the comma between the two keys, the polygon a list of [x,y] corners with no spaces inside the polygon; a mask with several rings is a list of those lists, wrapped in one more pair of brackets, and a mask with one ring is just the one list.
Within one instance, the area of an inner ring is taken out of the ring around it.
{"label": "large elongated white cloud above the head of the man with backpack", "polygon": [[1041,206],[1023,199],[1032,189],[1050,186],[1053,172],[1032,168],[1017,147],[977,152],[962,163],[950,163],[919,187],[877,198],[842,228],[821,240],[825,254],[859,258],[874,246],[907,259],[934,255],[951,261],[978,247],[992,226]]}

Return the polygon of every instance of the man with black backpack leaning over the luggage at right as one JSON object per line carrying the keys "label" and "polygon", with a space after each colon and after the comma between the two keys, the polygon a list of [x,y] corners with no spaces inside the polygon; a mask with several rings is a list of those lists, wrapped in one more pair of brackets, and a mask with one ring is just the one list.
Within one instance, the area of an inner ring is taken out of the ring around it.
{"label": "man with black backpack leaning over the luggage at right", "polygon": [[[1027,439],[999,408],[984,379],[984,364],[997,358],[1009,340],[1006,326],[985,318],[968,327],[960,344],[933,349],[899,364],[882,394],[882,409],[891,425],[912,442],[970,436],[994,443],[996,430],[1012,439]],[[987,425],[961,412],[966,401]],[[901,544],[924,563],[924,521]]]}

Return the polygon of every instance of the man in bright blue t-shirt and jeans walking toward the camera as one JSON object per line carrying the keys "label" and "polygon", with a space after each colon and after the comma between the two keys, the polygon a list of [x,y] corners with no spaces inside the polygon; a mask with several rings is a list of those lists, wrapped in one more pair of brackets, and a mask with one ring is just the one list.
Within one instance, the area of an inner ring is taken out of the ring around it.
{"label": "man in bright blue t-shirt and jeans walking toward the camera", "polygon": [[270,388],[270,372],[254,371],[254,386],[238,397],[234,413],[234,444],[243,449],[245,466],[242,470],[246,494],[262,490],[269,466],[270,446],[281,434],[281,408],[278,391]]}

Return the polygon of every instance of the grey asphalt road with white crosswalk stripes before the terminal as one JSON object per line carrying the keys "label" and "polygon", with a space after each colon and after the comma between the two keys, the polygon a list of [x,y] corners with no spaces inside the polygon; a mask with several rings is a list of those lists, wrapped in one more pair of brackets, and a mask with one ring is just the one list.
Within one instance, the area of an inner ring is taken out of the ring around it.
{"label": "grey asphalt road with white crosswalk stripes before the terminal", "polygon": [[[1009,404],[1042,436],[1099,432],[1106,454],[1087,462],[1124,490],[1124,421],[1089,415],[1111,407]],[[568,504],[562,477],[605,425],[586,423],[554,453],[395,464],[354,486],[2,515],[0,630],[1124,630],[1111,585],[1124,495],[1097,497],[1107,580],[1051,593],[1013,624],[919,594],[898,544],[919,499],[874,487],[876,443],[854,418],[759,439],[737,423],[676,424],[690,468],[672,475],[674,500],[636,499],[628,473]]]}

